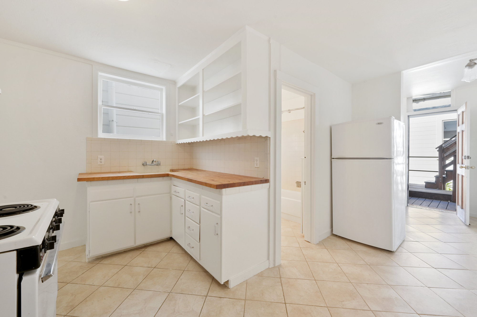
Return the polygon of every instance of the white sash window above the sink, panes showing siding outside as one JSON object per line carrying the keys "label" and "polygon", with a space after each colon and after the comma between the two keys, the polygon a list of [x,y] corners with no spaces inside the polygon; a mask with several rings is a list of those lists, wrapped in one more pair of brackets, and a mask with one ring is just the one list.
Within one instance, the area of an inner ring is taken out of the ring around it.
{"label": "white sash window above the sink, panes showing siding outside", "polygon": [[165,87],[99,73],[98,137],[163,140]]}

